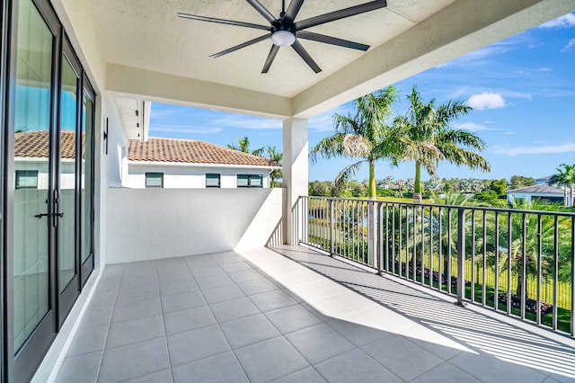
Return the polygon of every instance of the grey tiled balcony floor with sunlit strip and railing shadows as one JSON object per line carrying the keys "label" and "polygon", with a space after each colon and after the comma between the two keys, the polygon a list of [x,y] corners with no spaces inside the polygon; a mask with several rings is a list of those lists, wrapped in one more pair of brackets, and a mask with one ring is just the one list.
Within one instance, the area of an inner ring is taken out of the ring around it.
{"label": "grey tiled balcony floor with sunlit strip and railing shadows", "polygon": [[575,381],[575,342],[283,246],[108,265],[57,382]]}

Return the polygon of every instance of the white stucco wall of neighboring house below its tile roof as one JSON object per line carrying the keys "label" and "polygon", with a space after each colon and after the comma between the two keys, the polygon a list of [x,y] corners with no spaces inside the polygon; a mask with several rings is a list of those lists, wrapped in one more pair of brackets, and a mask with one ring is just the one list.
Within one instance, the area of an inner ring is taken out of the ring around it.
{"label": "white stucco wall of neighboring house below its tile roof", "polygon": [[129,163],[128,175],[122,182],[127,188],[146,187],[146,173],[163,173],[165,189],[197,189],[206,187],[206,174],[220,174],[222,189],[237,186],[237,174],[259,174],[264,188],[270,187],[270,169],[241,166],[202,166],[202,165],[149,165]]}

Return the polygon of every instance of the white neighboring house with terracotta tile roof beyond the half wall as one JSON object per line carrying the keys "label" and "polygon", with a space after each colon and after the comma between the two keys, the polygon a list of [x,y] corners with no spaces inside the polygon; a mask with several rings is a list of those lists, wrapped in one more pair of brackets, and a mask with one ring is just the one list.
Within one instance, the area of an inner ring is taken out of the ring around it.
{"label": "white neighboring house with terracotta tile roof beyond the half wall", "polygon": [[[124,167],[126,168],[126,167]],[[281,165],[228,147],[190,139],[130,141],[128,188],[269,188],[270,173]]]}

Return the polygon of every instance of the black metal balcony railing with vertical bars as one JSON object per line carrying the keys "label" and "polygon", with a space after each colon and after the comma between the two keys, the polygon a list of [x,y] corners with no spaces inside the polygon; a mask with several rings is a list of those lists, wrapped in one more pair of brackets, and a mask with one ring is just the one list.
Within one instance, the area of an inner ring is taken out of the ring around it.
{"label": "black metal balcony railing with vertical bars", "polygon": [[300,197],[292,218],[294,244],[575,333],[571,213]]}

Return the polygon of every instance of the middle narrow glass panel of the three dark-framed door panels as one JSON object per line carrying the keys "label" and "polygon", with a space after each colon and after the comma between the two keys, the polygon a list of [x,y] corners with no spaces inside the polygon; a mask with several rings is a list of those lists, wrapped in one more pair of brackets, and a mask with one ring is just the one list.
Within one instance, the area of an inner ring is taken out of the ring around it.
{"label": "middle narrow glass panel of the three dark-framed door panels", "polygon": [[[75,130],[78,76],[66,56],[62,57],[59,132],[59,195],[57,200],[58,292],[76,275],[75,264]],[[75,288],[77,291],[77,286]]]}

